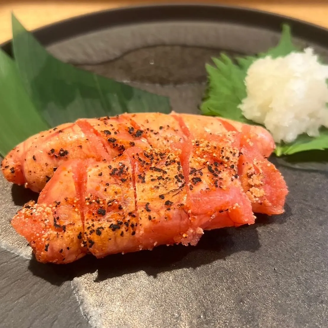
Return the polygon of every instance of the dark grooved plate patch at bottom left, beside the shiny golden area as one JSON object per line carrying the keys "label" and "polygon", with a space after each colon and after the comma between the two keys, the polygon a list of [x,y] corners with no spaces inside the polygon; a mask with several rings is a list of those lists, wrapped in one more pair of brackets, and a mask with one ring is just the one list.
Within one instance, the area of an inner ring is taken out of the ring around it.
{"label": "dark grooved plate patch at bottom left, beside the shiny golden area", "polygon": [[[47,280],[38,277],[40,270]],[[71,282],[59,279],[51,266],[1,250],[0,277],[1,327],[89,327]]]}

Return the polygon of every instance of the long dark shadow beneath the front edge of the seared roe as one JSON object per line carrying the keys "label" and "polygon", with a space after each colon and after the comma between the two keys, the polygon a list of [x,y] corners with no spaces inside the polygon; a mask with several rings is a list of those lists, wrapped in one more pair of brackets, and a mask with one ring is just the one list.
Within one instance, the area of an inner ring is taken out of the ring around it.
{"label": "long dark shadow beneath the front edge of the seared roe", "polygon": [[115,254],[102,259],[87,255],[65,265],[42,264],[32,259],[29,269],[33,275],[54,285],[61,285],[74,277],[95,271],[97,271],[95,279],[97,282],[140,270],[156,277],[165,271],[181,268],[195,269],[204,264],[224,260],[241,251],[256,252],[260,248],[257,227],[273,223],[283,224],[290,215],[291,209],[286,205],[286,212],[283,215],[274,217],[259,215],[257,223],[251,226],[206,231],[197,246],[159,246],[153,251]]}

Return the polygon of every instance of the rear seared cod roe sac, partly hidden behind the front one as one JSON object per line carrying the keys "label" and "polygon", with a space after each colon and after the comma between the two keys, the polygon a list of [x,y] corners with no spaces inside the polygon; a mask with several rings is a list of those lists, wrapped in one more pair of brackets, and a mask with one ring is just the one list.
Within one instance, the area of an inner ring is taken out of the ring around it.
{"label": "rear seared cod roe sac, partly hidden behind the front one", "polygon": [[[249,127],[209,116],[177,113],[137,113],[79,119],[21,143],[5,157],[1,169],[10,182],[25,184],[27,188],[40,192],[54,171],[69,159],[111,160],[133,146],[165,150],[172,143],[181,143],[188,138],[183,130],[186,124],[197,128],[199,137],[207,132],[238,131],[243,134]],[[271,154],[273,139],[263,128],[251,126],[247,137],[262,155]]]}

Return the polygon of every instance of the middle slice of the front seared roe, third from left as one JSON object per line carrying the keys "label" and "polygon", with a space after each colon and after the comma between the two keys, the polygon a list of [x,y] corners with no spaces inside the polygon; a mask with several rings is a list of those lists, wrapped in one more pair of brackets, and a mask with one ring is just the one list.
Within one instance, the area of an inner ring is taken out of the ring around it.
{"label": "middle slice of the front seared roe, third from left", "polygon": [[134,163],[136,236],[140,249],[182,243],[195,245],[203,231],[189,218],[186,183],[180,151],[158,152],[129,149]]}

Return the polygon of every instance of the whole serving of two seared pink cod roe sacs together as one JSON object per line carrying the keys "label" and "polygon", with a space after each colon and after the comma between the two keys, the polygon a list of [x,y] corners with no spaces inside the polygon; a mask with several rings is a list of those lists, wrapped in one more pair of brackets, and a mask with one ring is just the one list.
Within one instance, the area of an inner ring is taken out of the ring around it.
{"label": "whole serving of two seared pink cod roe sacs together", "polygon": [[287,186],[267,159],[274,147],[263,128],[217,117],[81,119],[3,160],[9,181],[41,191],[11,224],[44,263],[196,245],[205,230],[284,212]]}

